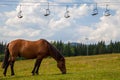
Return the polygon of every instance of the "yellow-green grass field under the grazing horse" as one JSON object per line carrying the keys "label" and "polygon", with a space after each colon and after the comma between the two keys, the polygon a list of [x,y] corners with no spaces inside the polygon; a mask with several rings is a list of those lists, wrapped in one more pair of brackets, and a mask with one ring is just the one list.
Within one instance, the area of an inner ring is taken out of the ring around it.
{"label": "yellow-green grass field under the grazing horse", "polygon": [[[120,80],[120,54],[67,57],[67,74],[62,75],[52,58],[43,60],[40,74],[32,76],[35,60],[22,60],[15,63],[15,76],[3,76],[0,80]],[[1,65],[1,63],[0,63]]]}

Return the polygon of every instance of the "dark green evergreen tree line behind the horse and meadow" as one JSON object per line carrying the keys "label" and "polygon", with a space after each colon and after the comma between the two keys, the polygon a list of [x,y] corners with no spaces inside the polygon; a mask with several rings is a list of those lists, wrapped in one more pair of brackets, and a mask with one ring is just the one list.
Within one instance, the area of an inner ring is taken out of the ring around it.
{"label": "dark green evergreen tree line behind the horse and meadow", "polygon": [[[105,41],[95,44],[84,43],[64,43],[60,41],[51,42],[64,56],[86,56],[108,53],[120,53],[120,41],[110,42],[106,45]],[[0,54],[4,53],[6,43],[0,42]]]}

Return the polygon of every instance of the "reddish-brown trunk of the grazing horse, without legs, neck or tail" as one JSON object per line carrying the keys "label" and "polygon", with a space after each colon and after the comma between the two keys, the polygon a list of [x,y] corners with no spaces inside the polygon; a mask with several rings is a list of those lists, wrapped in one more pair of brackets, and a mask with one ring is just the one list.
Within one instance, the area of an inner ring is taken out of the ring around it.
{"label": "reddish-brown trunk of the grazing horse, without legs, neck or tail", "polygon": [[28,41],[17,39],[9,43],[9,51],[12,56],[22,56],[25,58],[36,58],[45,56],[48,53],[48,42],[44,39]]}

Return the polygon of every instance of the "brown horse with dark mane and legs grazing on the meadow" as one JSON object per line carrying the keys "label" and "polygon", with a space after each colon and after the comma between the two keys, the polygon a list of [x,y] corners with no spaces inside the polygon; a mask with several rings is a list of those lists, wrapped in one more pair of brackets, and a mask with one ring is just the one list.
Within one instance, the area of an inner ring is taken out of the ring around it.
{"label": "brown horse with dark mane and legs grazing on the meadow", "polygon": [[27,59],[36,58],[35,65],[32,70],[33,75],[35,73],[38,74],[41,61],[47,56],[53,57],[57,61],[57,66],[62,74],[66,74],[64,57],[53,45],[44,39],[40,39],[38,41],[27,41],[22,39],[11,41],[5,49],[5,57],[2,64],[2,67],[4,68],[4,76],[6,76],[9,64],[11,67],[11,75],[14,75],[14,62],[18,56]]}

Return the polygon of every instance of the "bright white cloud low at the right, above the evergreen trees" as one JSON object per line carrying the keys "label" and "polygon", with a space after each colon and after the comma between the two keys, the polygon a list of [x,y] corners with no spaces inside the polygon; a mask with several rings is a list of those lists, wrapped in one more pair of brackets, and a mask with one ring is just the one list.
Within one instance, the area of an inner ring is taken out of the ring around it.
{"label": "bright white cloud low at the right, above the evergreen trees", "polygon": [[101,17],[101,22],[96,25],[96,29],[91,33],[92,39],[105,41],[120,39],[120,19],[118,19],[118,17],[120,17],[120,14],[110,17]]}

